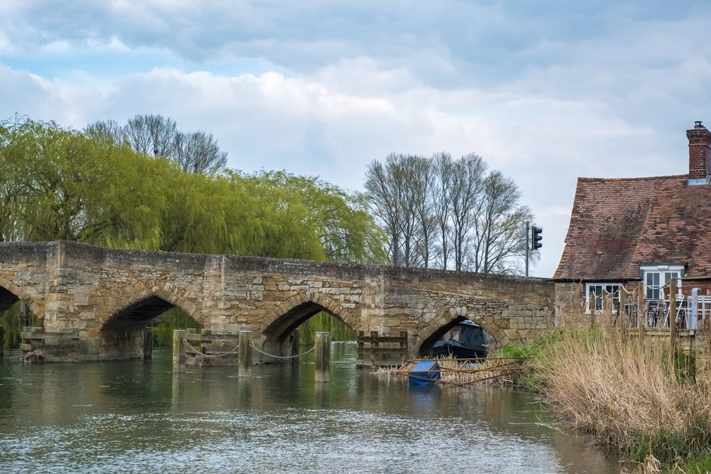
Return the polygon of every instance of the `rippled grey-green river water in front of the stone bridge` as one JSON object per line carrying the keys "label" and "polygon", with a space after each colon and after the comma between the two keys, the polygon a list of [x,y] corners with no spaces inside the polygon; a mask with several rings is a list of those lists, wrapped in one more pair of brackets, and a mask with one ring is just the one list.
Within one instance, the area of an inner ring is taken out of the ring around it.
{"label": "rippled grey-green river water in front of the stone bridge", "polygon": [[355,368],[331,344],[313,360],[188,367],[0,363],[0,473],[619,473],[531,394],[409,387]]}

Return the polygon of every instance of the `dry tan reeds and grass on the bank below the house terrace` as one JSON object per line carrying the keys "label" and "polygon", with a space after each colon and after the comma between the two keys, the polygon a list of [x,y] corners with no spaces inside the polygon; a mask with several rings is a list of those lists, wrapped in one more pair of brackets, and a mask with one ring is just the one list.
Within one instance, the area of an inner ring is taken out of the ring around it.
{"label": "dry tan reeds and grass on the bank below the house terrace", "polygon": [[711,472],[711,393],[690,358],[613,327],[562,330],[520,350],[523,383],[634,472]]}

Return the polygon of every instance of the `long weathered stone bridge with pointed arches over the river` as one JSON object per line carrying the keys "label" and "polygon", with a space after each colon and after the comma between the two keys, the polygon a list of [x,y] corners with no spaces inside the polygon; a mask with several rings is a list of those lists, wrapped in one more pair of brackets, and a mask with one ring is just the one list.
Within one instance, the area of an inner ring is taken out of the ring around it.
{"label": "long weathered stone bridge with pointed arches over the river", "polygon": [[[77,360],[143,357],[144,328],[173,306],[213,333],[251,330],[255,347],[276,355],[289,355],[294,329],[319,311],[361,342],[400,336],[408,357],[427,355],[464,319],[502,346],[555,327],[554,284],[545,279],[68,241],[0,244],[0,311],[18,300],[46,333],[74,335]],[[400,363],[387,344],[380,355],[375,346],[358,365]]]}

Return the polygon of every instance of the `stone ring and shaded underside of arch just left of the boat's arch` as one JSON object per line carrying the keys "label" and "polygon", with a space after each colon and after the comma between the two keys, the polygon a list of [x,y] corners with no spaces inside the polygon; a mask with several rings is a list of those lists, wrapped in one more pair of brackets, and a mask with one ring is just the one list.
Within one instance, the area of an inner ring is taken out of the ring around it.
{"label": "stone ring and shaded underside of arch just left of the boat's arch", "polygon": [[[294,330],[311,316],[324,311],[341,323],[356,330],[358,318],[333,298],[321,293],[303,291],[279,303],[262,324],[262,350],[272,355],[292,355]],[[275,362],[267,357],[262,362]]]}

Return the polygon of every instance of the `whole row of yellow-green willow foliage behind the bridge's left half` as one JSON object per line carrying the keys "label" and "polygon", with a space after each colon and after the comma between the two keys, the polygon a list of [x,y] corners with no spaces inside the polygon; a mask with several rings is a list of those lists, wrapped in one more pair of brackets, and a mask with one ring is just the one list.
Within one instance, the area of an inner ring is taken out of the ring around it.
{"label": "whole row of yellow-green willow foliage behind the bridge's left half", "polygon": [[363,195],[284,171],[188,173],[132,150],[109,125],[82,132],[26,117],[0,123],[0,239],[387,260]]}

